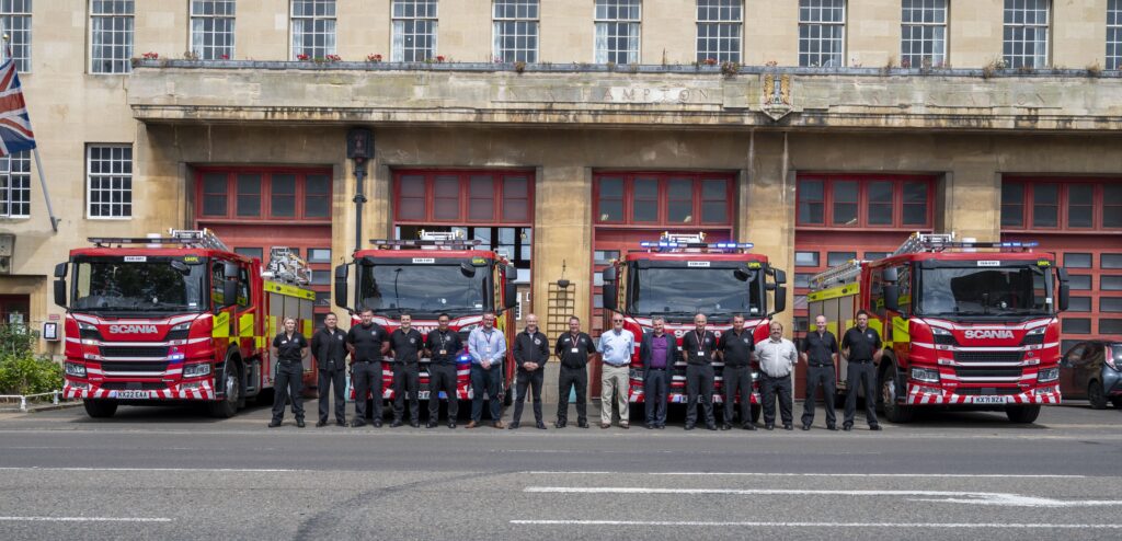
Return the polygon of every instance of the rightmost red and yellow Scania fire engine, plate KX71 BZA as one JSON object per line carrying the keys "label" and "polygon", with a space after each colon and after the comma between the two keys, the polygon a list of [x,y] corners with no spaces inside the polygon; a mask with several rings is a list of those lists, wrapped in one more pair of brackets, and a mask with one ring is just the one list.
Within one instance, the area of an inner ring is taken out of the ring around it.
{"label": "rightmost red and yellow Scania fire engine, plate KX71 BZA", "polygon": [[[889,421],[959,406],[1031,423],[1060,401],[1057,313],[1068,303],[1067,273],[1034,246],[914,233],[883,259],[812,277],[810,315],[840,340],[858,310],[871,314],[884,342],[872,400]],[[840,392],[845,359],[837,369]]]}

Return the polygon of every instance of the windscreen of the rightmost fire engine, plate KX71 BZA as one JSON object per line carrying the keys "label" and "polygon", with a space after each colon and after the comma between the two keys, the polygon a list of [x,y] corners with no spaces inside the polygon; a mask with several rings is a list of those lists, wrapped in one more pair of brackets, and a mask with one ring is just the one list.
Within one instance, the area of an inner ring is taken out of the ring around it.
{"label": "windscreen of the rightmost fire engine, plate KX71 BZA", "polygon": [[923,315],[1048,315],[1051,276],[1045,268],[939,267],[920,273]]}

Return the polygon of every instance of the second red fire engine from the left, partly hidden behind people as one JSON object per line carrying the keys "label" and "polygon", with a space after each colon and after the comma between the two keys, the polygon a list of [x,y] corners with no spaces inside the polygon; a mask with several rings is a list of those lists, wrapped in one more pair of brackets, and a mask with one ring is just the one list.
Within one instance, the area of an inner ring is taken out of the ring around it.
{"label": "second red fire engine from the left, partly hidden behind people", "polygon": [[[517,270],[499,254],[479,248],[479,240],[463,240],[451,232],[421,232],[419,240],[370,241],[374,248],[358,250],[353,260],[335,267],[335,305],[351,314],[351,325],[359,324],[359,310],[374,310],[374,321],[386,331],[397,329],[397,318],[412,317],[412,325],[427,336],[436,328],[436,318],[447,313],[449,328],[460,334],[465,351],[457,367],[457,398],[471,397],[471,357],[468,334],[482,324],[485,312],[495,312],[495,328],[507,340],[507,361],[503,364],[500,393],[509,404],[514,382],[514,314],[517,305],[514,277]],[[351,267],[357,287],[350,288]],[[353,292],[353,294],[351,293]],[[393,370],[383,368],[383,398],[393,398]],[[429,358],[421,359],[421,385],[417,397],[429,400]],[[351,391],[353,394],[353,389]],[[439,398],[448,398],[441,392]],[[369,398],[368,398],[369,400]]]}

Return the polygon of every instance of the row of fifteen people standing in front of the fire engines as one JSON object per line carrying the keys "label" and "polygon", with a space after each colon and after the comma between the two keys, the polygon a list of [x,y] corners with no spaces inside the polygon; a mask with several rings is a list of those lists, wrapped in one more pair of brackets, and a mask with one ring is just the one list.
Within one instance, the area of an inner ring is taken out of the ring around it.
{"label": "row of fifteen people standing in front of the fire engines", "polygon": [[[410,314],[402,314],[398,328],[387,332],[385,328],[374,322],[374,312],[361,311],[361,322],[348,332],[340,330],[334,314],[328,314],[324,327],[312,337],[311,343],[295,331],[295,320],[286,319],[284,331],[273,340],[273,355],[277,359],[276,398],[273,407],[273,420],[269,427],[279,427],[284,416],[284,406],[289,396],[300,395],[302,378],[302,358],[311,351],[320,369],[319,391],[320,407],[316,427],[328,424],[329,389],[334,395],[335,424],[343,427],[346,422],[344,378],[347,356],[353,355],[351,364],[351,380],[355,395],[362,397],[373,395],[375,400],[373,424],[381,427],[383,404],[383,363],[386,356],[393,358],[393,422],[390,427],[401,427],[405,421],[405,402],[408,401],[408,422],[419,428],[420,404],[420,358],[427,356],[429,365],[429,401],[427,428],[438,427],[440,413],[439,393],[448,397],[448,428],[454,429],[458,418],[459,401],[454,400],[457,391],[457,361],[463,351],[465,343],[460,334],[449,328],[448,314],[440,314],[438,328],[423,336],[412,328]],[[484,393],[489,402],[491,425],[497,429],[521,427],[523,406],[527,392],[533,398],[534,422],[537,429],[544,430],[542,412],[542,386],[544,384],[544,366],[549,361],[551,350],[548,339],[537,327],[537,317],[527,314],[526,327],[514,339],[513,356],[517,366],[515,375],[515,407],[509,425],[502,421],[500,383],[502,366],[506,359],[506,337],[495,328],[495,314],[485,313],[480,327],[468,336],[467,350],[471,358],[471,387],[475,389],[471,400],[471,420],[468,429],[479,427],[482,422]],[[576,315],[569,319],[569,332],[558,337],[552,354],[560,363],[558,386],[559,400],[554,428],[568,425],[569,395],[576,396],[577,425],[588,428],[588,361],[597,354],[601,359],[601,401],[600,428],[611,427],[618,414],[619,427],[629,428],[629,370],[632,354],[636,349],[635,336],[624,329],[624,319],[614,314],[611,329],[600,334],[598,341],[581,331],[580,319]],[[815,396],[822,387],[826,396],[826,427],[837,430],[833,397],[835,394],[835,365],[839,351],[848,359],[848,382],[852,388],[847,393],[845,404],[844,430],[852,430],[856,413],[857,388],[865,386],[865,396],[875,396],[876,375],[874,364],[880,360],[881,339],[876,330],[868,327],[868,313],[861,311],[856,315],[856,327],[846,331],[840,345],[837,338],[826,327],[826,318],[815,318],[815,331],[808,333],[802,342],[801,351],[794,343],[783,338],[783,325],[771,322],[767,339],[756,342],[751,330],[745,328],[745,319],[741,314],[733,317],[733,328],[718,338],[708,329],[705,314],[693,319],[695,330],[687,331],[681,337],[681,347],[674,334],[666,332],[665,320],[661,317],[652,321],[652,330],[643,333],[638,340],[640,360],[643,367],[643,393],[645,402],[645,424],[647,429],[665,428],[666,403],[673,367],[680,361],[686,363],[687,415],[686,430],[693,430],[698,423],[698,406],[701,409],[702,421],[709,430],[718,430],[714,414],[714,363],[724,365],[724,415],[721,430],[730,430],[739,404],[739,425],[745,430],[756,430],[751,416],[751,397],[753,388],[752,361],[760,367],[760,392],[763,402],[763,420],[766,430],[775,428],[775,403],[779,402],[779,419],[785,430],[793,430],[791,372],[800,360],[807,363],[807,393],[802,413],[802,430],[810,430],[815,419]],[[366,400],[355,401],[355,419],[351,427],[366,424]],[[881,430],[874,411],[875,401],[865,401],[865,414],[871,430]],[[300,400],[292,401],[296,425],[304,427],[304,411]]]}

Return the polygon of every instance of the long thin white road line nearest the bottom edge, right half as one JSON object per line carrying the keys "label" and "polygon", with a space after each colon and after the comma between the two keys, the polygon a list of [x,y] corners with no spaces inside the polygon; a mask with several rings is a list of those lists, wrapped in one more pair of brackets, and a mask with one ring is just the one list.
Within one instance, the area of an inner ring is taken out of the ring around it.
{"label": "long thin white road line nearest the bottom edge, right half", "polygon": [[1006,522],[708,522],[708,521],[511,521],[522,525],[578,526],[757,526],[757,528],[1023,528],[1119,530],[1122,524],[1029,524]]}

